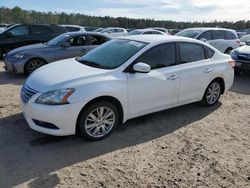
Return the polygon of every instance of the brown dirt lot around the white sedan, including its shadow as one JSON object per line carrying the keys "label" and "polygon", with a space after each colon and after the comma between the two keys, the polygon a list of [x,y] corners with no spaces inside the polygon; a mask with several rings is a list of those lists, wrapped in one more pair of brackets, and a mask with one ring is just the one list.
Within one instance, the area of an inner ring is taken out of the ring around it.
{"label": "brown dirt lot around the white sedan, including its shadow", "polygon": [[212,108],[130,120],[109,138],[51,137],[21,114],[23,76],[0,62],[0,187],[250,187],[250,76]]}

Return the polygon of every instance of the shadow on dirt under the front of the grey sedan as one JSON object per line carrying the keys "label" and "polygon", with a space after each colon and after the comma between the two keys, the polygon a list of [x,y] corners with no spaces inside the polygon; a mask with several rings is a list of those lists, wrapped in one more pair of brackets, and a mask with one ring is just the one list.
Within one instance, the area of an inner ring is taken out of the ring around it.
{"label": "shadow on dirt under the front of the grey sedan", "polygon": [[12,74],[5,71],[0,71],[0,85],[4,84],[14,84],[22,85],[26,77],[21,74]]}

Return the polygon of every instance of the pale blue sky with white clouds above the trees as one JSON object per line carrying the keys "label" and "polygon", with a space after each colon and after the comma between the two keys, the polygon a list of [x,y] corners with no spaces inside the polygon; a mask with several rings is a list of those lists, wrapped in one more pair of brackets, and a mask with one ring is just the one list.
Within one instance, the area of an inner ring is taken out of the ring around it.
{"label": "pale blue sky with white clouds above the trees", "polygon": [[156,20],[250,20],[249,0],[1,0],[0,6]]}

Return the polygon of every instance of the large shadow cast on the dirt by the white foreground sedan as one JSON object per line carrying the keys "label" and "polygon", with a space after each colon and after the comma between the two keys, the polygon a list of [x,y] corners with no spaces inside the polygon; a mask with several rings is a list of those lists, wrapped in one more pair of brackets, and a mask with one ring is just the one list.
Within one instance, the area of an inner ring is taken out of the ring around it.
{"label": "large shadow cast on the dirt by the white foreground sedan", "polygon": [[129,120],[101,141],[77,136],[53,137],[32,131],[22,114],[0,119],[0,187],[31,181],[30,187],[53,187],[52,172],[119,149],[145,143],[188,126],[221,106],[194,103]]}

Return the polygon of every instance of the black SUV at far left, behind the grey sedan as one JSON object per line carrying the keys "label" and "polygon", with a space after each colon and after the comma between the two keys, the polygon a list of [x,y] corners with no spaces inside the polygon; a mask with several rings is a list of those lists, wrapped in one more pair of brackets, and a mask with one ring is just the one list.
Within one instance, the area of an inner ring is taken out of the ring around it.
{"label": "black SUV at far left, behind the grey sedan", "polygon": [[0,59],[10,50],[47,42],[65,32],[67,30],[64,27],[54,24],[15,24],[0,33]]}

